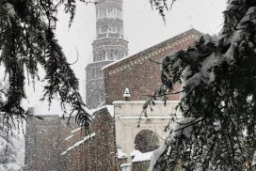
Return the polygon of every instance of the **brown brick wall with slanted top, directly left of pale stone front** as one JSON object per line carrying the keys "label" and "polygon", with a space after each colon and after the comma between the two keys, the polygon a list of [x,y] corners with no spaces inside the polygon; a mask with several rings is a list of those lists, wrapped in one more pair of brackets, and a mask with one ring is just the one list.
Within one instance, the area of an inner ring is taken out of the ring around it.
{"label": "brown brick wall with slanted top, directly left of pale stone front", "polygon": [[[113,171],[118,168],[114,119],[109,115],[106,108],[94,113],[94,115],[89,133],[95,132],[95,136],[63,155],[66,170]],[[77,131],[67,141],[72,146],[89,133]]]}

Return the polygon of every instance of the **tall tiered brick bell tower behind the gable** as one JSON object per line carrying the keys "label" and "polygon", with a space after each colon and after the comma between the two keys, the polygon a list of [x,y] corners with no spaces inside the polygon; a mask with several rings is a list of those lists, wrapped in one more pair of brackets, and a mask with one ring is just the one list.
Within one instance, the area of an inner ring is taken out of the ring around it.
{"label": "tall tiered brick bell tower behind the gable", "polygon": [[128,41],[123,39],[122,0],[96,0],[96,39],[92,42],[93,62],[86,67],[88,108],[104,104],[102,68],[128,55]]}

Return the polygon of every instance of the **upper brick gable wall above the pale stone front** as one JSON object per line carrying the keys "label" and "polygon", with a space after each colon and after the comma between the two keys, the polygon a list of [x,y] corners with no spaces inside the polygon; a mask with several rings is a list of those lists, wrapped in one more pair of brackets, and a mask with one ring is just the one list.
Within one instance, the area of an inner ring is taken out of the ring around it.
{"label": "upper brick gable wall above the pale stone front", "polygon": [[[145,95],[152,95],[161,85],[161,65],[158,64],[161,59],[167,54],[187,48],[199,39],[200,35],[195,29],[188,30],[105,68],[106,104],[122,101],[125,88],[129,88],[131,92],[131,101],[146,100],[148,97]],[[180,85],[175,85],[174,91],[179,90]],[[179,99],[179,94],[169,97],[170,101]]]}

